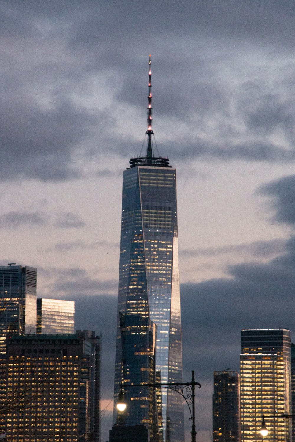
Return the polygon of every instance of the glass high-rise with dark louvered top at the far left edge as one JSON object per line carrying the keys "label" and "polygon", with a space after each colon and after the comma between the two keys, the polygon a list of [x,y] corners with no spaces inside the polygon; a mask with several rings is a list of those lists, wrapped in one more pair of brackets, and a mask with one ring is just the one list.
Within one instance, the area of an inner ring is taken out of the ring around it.
{"label": "glass high-rise with dark louvered top at the far left edge", "polygon": [[7,333],[36,333],[37,269],[0,267],[0,355]]}

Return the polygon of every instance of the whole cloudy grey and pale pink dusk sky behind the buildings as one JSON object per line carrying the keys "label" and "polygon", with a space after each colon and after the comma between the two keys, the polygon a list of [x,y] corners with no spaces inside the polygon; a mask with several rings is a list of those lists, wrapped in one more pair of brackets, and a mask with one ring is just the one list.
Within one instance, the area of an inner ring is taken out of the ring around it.
{"label": "whole cloudy grey and pale pink dusk sky behind the buildings", "polygon": [[122,172],[152,54],[153,129],[177,168],[184,379],[202,384],[209,442],[213,371],[238,369],[241,328],[294,329],[294,2],[1,0],[0,14],[0,264],[37,267],[38,296],[75,300],[77,328],[103,333],[104,406]]}

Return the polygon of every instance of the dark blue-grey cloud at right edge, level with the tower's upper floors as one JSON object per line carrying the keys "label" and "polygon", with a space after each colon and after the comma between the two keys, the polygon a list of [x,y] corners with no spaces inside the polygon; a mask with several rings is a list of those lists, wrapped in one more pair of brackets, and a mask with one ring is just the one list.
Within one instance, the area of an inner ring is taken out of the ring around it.
{"label": "dark blue-grey cloud at right edge, level with the tower's upper floors", "polygon": [[262,194],[272,197],[275,221],[295,226],[295,175],[285,176],[263,186]]}

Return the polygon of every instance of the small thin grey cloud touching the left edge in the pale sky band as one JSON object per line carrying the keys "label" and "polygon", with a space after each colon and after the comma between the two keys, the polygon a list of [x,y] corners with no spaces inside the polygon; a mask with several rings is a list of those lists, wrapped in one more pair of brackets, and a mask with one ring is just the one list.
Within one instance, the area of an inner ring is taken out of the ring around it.
{"label": "small thin grey cloud touching the left edge in the pale sky band", "polygon": [[17,229],[22,225],[40,227],[46,224],[46,215],[43,212],[26,212],[12,210],[0,216],[0,227],[4,229]]}

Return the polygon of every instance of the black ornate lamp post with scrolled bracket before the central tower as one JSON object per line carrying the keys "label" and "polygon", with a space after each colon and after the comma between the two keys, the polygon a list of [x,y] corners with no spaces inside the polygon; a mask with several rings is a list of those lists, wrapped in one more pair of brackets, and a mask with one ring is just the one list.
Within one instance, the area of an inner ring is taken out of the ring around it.
{"label": "black ornate lamp post with scrolled bracket before the central tower", "polygon": [[[177,393],[180,394],[180,396],[182,396],[185,400],[185,402],[188,404],[188,409],[190,412],[191,417],[188,418],[188,420],[192,421],[192,442],[195,442],[195,436],[196,436],[196,431],[195,431],[195,387],[197,386],[198,388],[201,388],[201,384],[199,384],[199,382],[195,381],[195,377],[194,377],[194,370],[192,370],[192,381],[191,382],[172,382],[170,384],[162,384],[162,383],[156,383],[156,384],[148,384],[148,383],[143,383],[143,384],[125,384],[124,388],[126,387],[141,387],[142,385],[144,385],[146,388],[151,388],[151,387],[166,387],[170,390],[176,391]],[[120,388],[120,393],[118,396],[118,403],[117,403],[117,408],[120,411],[124,411],[126,408],[126,403],[122,402],[122,396],[121,392],[123,394],[123,387],[121,385]],[[123,396],[124,397],[124,396]],[[120,403],[119,403],[120,400]],[[123,406],[123,403],[125,405],[125,407],[123,408],[123,410],[121,410],[119,408],[118,405]],[[192,408],[191,408],[192,405]]]}

